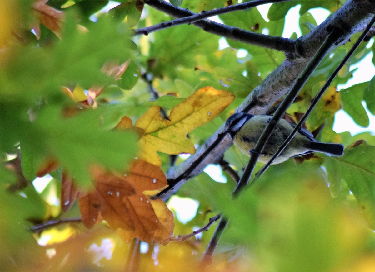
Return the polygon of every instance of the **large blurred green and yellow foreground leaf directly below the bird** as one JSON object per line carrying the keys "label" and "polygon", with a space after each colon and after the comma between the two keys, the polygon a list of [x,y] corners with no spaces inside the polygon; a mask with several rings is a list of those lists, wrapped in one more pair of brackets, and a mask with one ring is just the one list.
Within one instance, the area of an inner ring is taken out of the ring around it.
{"label": "large blurred green and yellow foreground leaf directly below the bird", "polygon": [[265,271],[329,271],[355,260],[369,232],[331,199],[320,167],[291,161],[269,170],[235,199],[212,191],[229,217],[226,241],[246,243]]}

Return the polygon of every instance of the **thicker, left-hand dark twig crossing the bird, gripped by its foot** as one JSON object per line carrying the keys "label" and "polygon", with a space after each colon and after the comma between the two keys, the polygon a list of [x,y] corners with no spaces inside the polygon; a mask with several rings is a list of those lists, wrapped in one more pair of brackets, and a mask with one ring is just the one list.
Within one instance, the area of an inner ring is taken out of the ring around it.
{"label": "thicker, left-hand dark twig crossing the bird, gripped by its foot", "polygon": [[251,152],[250,154],[249,163],[246,166],[240,182],[237,184],[236,188],[233,191],[234,196],[236,196],[241,191],[241,189],[246,184],[248,184],[248,180],[254,170],[255,164],[257,163],[258,158],[263,151],[264,146],[266,146],[266,143],[270,138],[273,130],[275,129],[276,124],[280,121],[281,117],[293,103],[294,99],[296,99],[299,91],[302,89],[303,85],[306,83],[311,74],[315,71],[315,68],[318,67],[321,60],[324,58],[324,56],[326,56],[327,52],[329,52],[330,48],[332,47],[332,40],[336,40],[337,35],[338,33],[336,33],[336,31],[332,31],[328,35],[317,53],[315,53],[315,55],[309,61],[308,65],[305,67],[302,74],[297,78],[287,96],[285,96],[284,100],[280,103],[273,117],[270,118],[269,124],[267,124],[266,128],[263,130],[263,133],[261,134],[257,144],[253,149],[253,152]]}

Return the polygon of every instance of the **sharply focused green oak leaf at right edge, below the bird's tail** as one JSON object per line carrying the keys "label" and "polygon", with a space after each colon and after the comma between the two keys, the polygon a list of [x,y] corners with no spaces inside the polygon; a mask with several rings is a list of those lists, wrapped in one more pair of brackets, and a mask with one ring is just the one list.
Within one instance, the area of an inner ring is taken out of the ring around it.
{"label": "sharply focused green oak leaf at right edge, below the bird's tail", "polygon": [[375,146],[356,142],[341,158],[325,158],[330,186],[345,180],[371,228],[375,229]]}

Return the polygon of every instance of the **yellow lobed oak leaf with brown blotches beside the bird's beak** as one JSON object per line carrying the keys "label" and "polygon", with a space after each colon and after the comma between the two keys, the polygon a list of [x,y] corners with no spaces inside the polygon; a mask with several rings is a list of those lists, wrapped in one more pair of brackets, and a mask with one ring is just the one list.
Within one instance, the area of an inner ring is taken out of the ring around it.
{"label": "yellow lobed oak leaf with brown blotches beside the bird's beak", "polygon": [[211,121],[233,99],[234,95],[229,92],[204,87],[175,106],[169,114],[169,120],[162,118],[159,106],[152,106],[135,123],[135,127],[145,130],[139,140],[139,157],[161,166],[157,151],[175,155],[195,153],[193,143],[186,137],[187,133]]}

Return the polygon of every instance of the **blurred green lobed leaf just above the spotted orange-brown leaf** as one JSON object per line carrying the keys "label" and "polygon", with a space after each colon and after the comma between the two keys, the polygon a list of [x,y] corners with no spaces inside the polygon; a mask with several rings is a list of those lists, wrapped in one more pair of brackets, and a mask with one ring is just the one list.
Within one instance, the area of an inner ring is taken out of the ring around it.
{"label": "blurred green lobed leaf just above the spotted orange-brown leaf", "polygon": [[[121,171],[136,156],[137,136],[103,130],[100,117],[96,110],[62,119],[58,109],[46,108],[34,122],[34,132],[21,141],[21,150],[28,145],[27,148],[34,148],[36,158],[55,158],[79,185],[89,186],[92,164]],[[22,163],[36,164],[30,157]]]}

